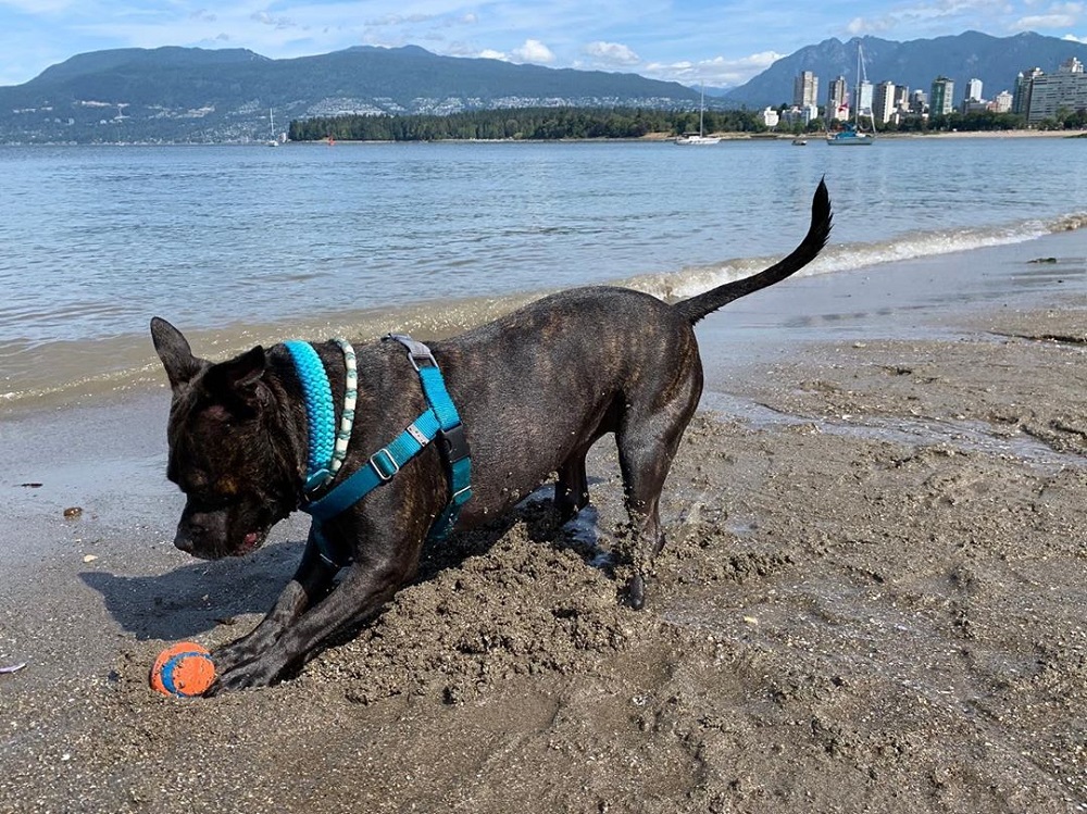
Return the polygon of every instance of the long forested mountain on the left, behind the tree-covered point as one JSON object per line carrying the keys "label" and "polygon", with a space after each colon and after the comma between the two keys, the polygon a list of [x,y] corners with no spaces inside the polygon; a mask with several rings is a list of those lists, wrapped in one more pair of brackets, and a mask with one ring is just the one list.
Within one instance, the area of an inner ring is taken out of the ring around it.
{"label": "long forested mountain on the left, behind the tree-covered point", "polygon": [[79,54],[0,88],[0,142],[246,141],[273,122],[346,113],[527,107],[675,108],[698,91],[636,74],[439,57],[360,46],[272,60],[241,49]]}

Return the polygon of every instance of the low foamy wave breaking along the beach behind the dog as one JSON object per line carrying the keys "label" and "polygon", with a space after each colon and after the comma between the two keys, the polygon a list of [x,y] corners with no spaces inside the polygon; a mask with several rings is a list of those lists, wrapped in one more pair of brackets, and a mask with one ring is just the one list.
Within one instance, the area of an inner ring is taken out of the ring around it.
{"label": "low foamy wave breaking along the beach behind the dog", "polygon": [[[872,243],[832,245],[800,275],[855,272],[887,263],[1023,243],[1085,227],[1087,212],[1072,212],[1049,220],[1026,220],[999,227],[914,231]],[[754,274],[779,259],[734,259],[711,266],[639,275],[615,283],[674,301]],[[253,345],[271,345],[289,337],[376,338],[393,331],[415,334],[421,338],[442,338],[495,318],[546,293],[547,290],[538,289],[490,298],[410,303],[393,309],[339,311],[305,322],[203,327],[186,329],[186,335],[199,353],[211,359],[225,359]],[[0,341],[0,362],[4,368],[3,375],[0,375],[0,410],[5,413],[40,410],[86,397],[146,391],[164,384],[147,334],[45,345],[9,338]]]}

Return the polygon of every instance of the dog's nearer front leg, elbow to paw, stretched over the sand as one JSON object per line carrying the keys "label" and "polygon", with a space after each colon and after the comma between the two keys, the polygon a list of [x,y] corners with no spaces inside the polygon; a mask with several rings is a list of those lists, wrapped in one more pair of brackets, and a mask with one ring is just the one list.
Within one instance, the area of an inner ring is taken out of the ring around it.
{"label": "dog's nearer front leg, elbow to paw, stretched over the sand", "polygon": [[303,663],[338,631],[350,629],[392,598],[410,574],[401,562],[357,561],[342,581],[257,658],[220,675],[208,694],[275,682],[289,667]]}

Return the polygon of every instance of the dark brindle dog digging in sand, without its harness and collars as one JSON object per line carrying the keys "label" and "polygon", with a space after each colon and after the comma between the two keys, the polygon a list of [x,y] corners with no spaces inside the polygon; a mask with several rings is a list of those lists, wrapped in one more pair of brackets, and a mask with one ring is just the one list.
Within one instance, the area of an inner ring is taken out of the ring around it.
{"label": "dark brindle dog digging in sand, without its harness and collars", "polygon": [[[472,455],[473,497],[457,528],[509,512],[551,473],[558,473],[560,517],[569,519],[589,500],[586,453],[613,433],[635,541],[628,601],[640,608],[648,564],[664,543],[661,490],[702,391],[694,325],[811,262],[830,221],[821,181],[803,241],[759,274],[674,305],[622,288],[574,289],[434,342]],[[173,388],[166,474],[187,497],[175,544],[207,559],[247,554],[304,500],[307,414],[290,355],[282,345],[257,347],[213,364],[195,356],[163,320],[152,320],[151,335]],[[338,421],[343,356],[333,342],[315,348]],[[337,481],[366,466],[427,406],[400,345],[368,342],[357,353],[359,419]],[[311,533],[297,573],[263,622],[214,653],[218,679],[210,692],[280,679],[412,578],[449,493],[436,447],[325,523],[329,544],[351,560],[338,584],[339,568],[321,556]]]}

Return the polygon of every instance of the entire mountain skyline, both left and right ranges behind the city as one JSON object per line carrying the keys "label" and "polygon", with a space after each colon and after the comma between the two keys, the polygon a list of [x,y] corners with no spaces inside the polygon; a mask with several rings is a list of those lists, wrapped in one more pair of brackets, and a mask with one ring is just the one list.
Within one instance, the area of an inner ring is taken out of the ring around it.
{"label": "entire mountain skyline, both left and right ranges behind the city", "polygon": [[[801,71],[854,80],[858,45],[867,78],[927,90],[937,75],[979,78],[991,98],[1015,74],[1050,73],[1087,45],[1037,34],[977,32],[894,42],[828,39],[785,57],[713,107],[789,103]],[[636,74],[554,70],[499,60],[439,57],[415,46],[361,46],[272,60],[242,49],[118,49],[73,57],[23,85],[0,87],[0,142],[260,141],[288,120],[346,113],[453,113],[526,107],[697,108],[699,91]],[[277,125],[277,126],[276,126]]]}

